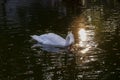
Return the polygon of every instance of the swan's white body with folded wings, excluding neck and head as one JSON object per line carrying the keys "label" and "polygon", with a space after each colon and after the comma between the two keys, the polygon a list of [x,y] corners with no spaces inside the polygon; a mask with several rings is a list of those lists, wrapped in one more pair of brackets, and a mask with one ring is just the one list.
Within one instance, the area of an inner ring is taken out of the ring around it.
{"label": "swan's white body with folded wings, excluding neck and head", "polygon": [[33,35],[31,37],[42,44],[54,45],[54,46],[65,45],[65,39],[54,33],[43,34],[40,36]]}

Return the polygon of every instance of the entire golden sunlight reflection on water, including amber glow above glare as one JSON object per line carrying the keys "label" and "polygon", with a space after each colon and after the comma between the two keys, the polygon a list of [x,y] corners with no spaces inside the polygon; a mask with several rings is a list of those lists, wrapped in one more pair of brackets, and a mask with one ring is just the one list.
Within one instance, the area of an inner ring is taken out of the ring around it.
{"label": "entire golden sunlight reflection on water, including amber glow above glare", "polygon": [[[88,63],[91,61],[96,61],[97,57],[93,54],[96,53],[95,49],[97,47],[96,43],[96,26],[92,24],[91,19],[88,16],[88,21],[86,19],[86,15],[80,15],[75,21],[72,23],[72,30],[75,34],[75,49],[74,53],[76,55],[76,63],[77,65]],[[89,19],[90,18],[90,19]],[[94,21],[94,20],[93,20]],[[92,56],[92,57],[91,57]]]}

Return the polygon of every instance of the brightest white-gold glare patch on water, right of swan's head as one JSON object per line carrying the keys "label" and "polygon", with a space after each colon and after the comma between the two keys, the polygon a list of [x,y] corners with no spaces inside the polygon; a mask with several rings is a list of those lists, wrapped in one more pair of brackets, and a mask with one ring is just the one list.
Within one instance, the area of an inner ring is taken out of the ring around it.
{"label": "brightest white-gold glare patch on water, right of swan's head", "polygon": [[90,48],[92,48],[92,46],[95,45],[94,42],[92,42],[92,40],[94,39],[94,34],[95,34],[93,33],[94,33],[93,31],[85,30],[84,28],[79,29],[78,31],[79,47],[84,48],[80,51],[81,53],[83,54],[87,53],[87,51],[89,51]]}

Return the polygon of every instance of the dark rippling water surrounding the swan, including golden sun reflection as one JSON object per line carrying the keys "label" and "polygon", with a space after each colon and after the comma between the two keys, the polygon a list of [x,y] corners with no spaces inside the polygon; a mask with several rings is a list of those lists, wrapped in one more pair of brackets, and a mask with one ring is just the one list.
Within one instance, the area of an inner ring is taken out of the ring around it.
{"label": "dark rippling water surrounding the swan, including golden sun reflection", "polygon": [[[96,0],[67,4],[66,11],[32,5],[31,12],[18,8],[15,21],[0,15],[0,80],[119,80],[119,5]],[[31,48],[30,35],[53,32],[65,38],[68,31],[75,36],[71,52]]]}

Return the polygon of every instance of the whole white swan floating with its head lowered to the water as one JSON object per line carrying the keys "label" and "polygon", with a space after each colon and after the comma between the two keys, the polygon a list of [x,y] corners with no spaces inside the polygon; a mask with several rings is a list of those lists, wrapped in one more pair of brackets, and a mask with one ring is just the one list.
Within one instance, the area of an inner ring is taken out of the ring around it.
{"label": "whole white swan floating with its head lowered to the water", "polygon": [[32,35],[31,37],[42,45],[49,45],[60,48],[69,47],[74,43],[74,35],[72,32],[68,32],[66,39],[54,33],[42,34],[40,36]]}

